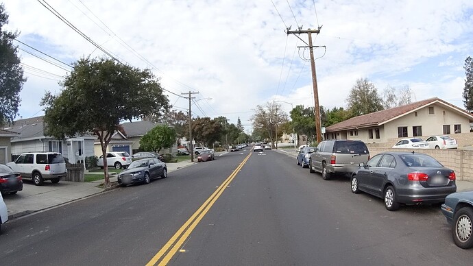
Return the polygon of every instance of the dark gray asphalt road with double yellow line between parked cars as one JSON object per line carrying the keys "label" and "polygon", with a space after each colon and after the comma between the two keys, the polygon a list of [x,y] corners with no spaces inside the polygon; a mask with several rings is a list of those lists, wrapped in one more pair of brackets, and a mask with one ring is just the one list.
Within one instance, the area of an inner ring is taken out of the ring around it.
{"label": "dark gray asphalt road with double yellow line between parked cars", "polygon": [[381,199],[352,194],[348,178],[324,181],[284,154],[250,149],[3,229],[1,265],[146,265],[154,258],[170,265],[471,265],[473,258],[452,243],[438,206],[388,212]]}

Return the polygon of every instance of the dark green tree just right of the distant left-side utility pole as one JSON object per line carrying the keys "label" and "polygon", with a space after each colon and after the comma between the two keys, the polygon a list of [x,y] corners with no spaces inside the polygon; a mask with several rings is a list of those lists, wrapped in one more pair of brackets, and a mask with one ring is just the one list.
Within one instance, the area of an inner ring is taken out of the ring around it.
{"label": "dark green tree just right of the distant left-side utility pole", "polygon": [[206,146],[219,141],[223,132],[219,119],[209,117],[197,118],[192,121],[192,136],[198,143]]}

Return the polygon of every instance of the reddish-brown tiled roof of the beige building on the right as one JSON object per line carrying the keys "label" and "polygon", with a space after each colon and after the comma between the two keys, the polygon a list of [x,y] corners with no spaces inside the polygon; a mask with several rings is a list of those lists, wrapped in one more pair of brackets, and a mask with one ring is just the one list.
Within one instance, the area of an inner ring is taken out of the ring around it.
{"label": "reddish-brown tiled roof of the beige building on the right", "polygon": [[464,115],[465,117],[469,117],[470,122],[473,122],[473,115],[469,112],[454,106],[438,97],[424,99],[422,101],[416,101],[412,104],[407,104],[405,106],[398,106],[394,108],[389,108],[386,110],[381,110],[378,112],[372,112],[370,114],[363,114],[359,117],[353,117],[351,119],[341,121],[340,123],[336,123],[335,125],[330,125],[326,128],[326,132],[337,132],[340,130],[353,130],[356,128],[367,128],[377,125],[383,125],[389,121],[394,119],[398,119],[399,117],[403,117],[406,114],[411,112],[415,112],[421,108],[426,106],[430,106],[432,104],[441,104],[446,108],[452,109],[454,112],[459,112],[460,114]]}

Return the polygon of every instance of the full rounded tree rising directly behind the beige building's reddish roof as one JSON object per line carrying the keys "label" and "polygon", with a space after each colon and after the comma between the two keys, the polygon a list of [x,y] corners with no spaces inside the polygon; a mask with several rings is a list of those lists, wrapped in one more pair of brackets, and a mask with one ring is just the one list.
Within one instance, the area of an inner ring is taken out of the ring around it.
{"label": "full rounded tree rising directly behind the beige building's reddish roof", "polygon": [[366,78],[356,80],[346,101],[353,117],[384,110],[383,99],[378,95],[378,89]]}

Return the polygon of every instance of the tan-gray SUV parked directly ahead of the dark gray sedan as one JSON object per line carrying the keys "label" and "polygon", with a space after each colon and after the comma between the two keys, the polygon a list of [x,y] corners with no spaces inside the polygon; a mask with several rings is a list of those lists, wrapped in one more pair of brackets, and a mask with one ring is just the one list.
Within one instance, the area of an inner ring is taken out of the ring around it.
{"label": "tan-gray SUV parked directly ahead of the dark gray sedan", "polygon": [[311,173],[322,173],[322,178],[329,180],[334,174],[351,176],[359,163],[367,160],[369,151],[363,141],[322,141],[311,154],[308,169]]}

